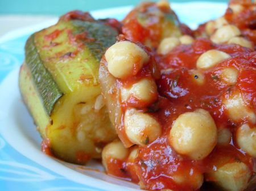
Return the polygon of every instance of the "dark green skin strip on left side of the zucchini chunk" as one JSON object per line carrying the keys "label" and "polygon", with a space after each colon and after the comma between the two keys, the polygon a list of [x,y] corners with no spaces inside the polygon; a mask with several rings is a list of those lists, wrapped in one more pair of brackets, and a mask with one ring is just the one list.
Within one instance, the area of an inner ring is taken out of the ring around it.
{"label": "dark green skin strip on left side of the zucchini chunk", "polygon": [[35,36],[31,35],[27,40],[25,46],[26,63],[30,69],[39,97],[42,99],[44,109],[50,116],[56,101],[63,96],[63,92],[61,92],[59,86],[53,80],[51,73],[44,67],[34,39]]}

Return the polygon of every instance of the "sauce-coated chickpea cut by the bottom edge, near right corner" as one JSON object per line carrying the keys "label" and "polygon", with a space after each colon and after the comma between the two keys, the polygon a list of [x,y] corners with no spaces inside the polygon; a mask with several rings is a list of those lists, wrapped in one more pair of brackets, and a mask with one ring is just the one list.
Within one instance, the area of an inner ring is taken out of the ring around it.
{"label": "sauce-coated chickpea cut by the bottom edge, near right corner", "polygon": [[225,164],[217,171],[212,171],[206,175],[207,179],[214,180],[217,185],[230,191],[244,190],[250,176],[250,169],[245,163],[241,162]]}

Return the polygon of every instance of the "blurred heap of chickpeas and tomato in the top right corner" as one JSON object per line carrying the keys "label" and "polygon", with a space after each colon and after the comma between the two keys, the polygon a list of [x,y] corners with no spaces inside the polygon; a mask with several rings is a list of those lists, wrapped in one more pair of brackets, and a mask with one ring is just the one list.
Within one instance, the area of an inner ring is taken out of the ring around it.
{"label": "blurred heap of chickpeas and tomato in the top right corner", "polygon": [[201,24],[195,36],[209,37],[218,44],[239,44],[254,49],[256,43],[256,3],[250,0],[231,0],[226,13]]}

